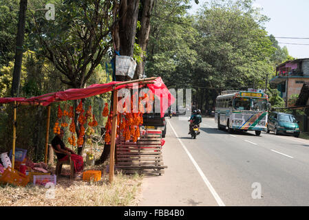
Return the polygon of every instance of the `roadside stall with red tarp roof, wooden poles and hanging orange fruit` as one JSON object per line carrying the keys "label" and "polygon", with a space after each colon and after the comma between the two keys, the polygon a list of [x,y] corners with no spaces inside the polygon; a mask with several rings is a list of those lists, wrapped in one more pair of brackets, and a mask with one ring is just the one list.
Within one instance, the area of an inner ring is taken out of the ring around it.
{"label": "roadside stall with red tarp roof, wooden poles and hanging orange fruit", "polygon": [[[107,124],[105,126],[105,143],[109,143],[111,146],[110,164],[109,164],[109,181],[113,181],[114,177],[114,158],[115,158],[115,144],[116,137],[119,140],[122,138],[125,142],[138,141],[140,137],[140,125],[142,124],[142,113],[150,110],[149,106],[142,107],[142,103],[145,100],[151,99],[151,95],[140,97],[138,96],[138,111],[130,112],[133,110],[133,103],[131,103],[131,109],[122,105],[125,111],[118,111],[118,103],[122,97],[118,97],[118,90],[122,88],[132,89],[138,85],[138,89],[147,87],[151,94],[159,94],[161,100],[169,100],[164,102],[160,106],[160,113],[162,117],[164,116],[164,111],[167,110],[170,104],[175,101],[175,98],[171,96],[169,90],[164,85],[162,79],[159,78],[145,78],[141,80],[131,80],[126,82],[111,82],[106,84],[95,84],[90,85],[84,89],[67,89],[65,91],[58,91],[51,94],[45,94],[43,96],[36,96],[32,98],[0,98],[0,103],[14,103],[14,123],[13,123],[13,144],[12,144],[12,171],[14,172],[15,166],[15,140],[16,140],[16,117],[17,117],[17,107],[19,104],[40,104],[42,106],[48,107],[47,111],[47,126],[46,126],[46,140],[45,140],[45,163],[47,162],[47,148],[48,148],[48,133],[50,127],[50,104],[53,102],[62,102],[67,100],[82,100],[83,98],[88,98],[91,96],[96,96],[98,94],[103,94],[109,91],[114,91],[113,93],[113,103],[112,109],[109,112],[107,103],[103,109],[103,117],[107,117]],[[135,94],[136,95],[136,94]],[[138,94],[137,94],[138,95]],[[132,96],[133,98],[133,96]],[[132,102],[132,100],[131,100]],[[126,102],[127,103],[127,102]],[[78,124],[75,124],[74,117],[78,117]],[[74,107],[65,106],[61,109],[58,104],[57,120],[54,123],[53,132],[55,134],[60,133],[61,127],[68,128],[71,132],[70,137],[68,137],[68,142],[73,148],[82,146],[84,141],[90,146],[92,145],[91,135],[94,133],[94,127],[98,126],[96,121],[98,115],[92,113],[92,107],[89,109],[83,109],[83,102],[79,102],[78,106],[74,110]],[[76,126],[79,126],[79,133],[76,135]],[[91,148],[92,149],[92,148]],[[87,158],[91,161],[93,158],[92,152],[87,154]],[[17,171],[19,172],[19,171]],[[19,174],[19,173],[18,173]]]}

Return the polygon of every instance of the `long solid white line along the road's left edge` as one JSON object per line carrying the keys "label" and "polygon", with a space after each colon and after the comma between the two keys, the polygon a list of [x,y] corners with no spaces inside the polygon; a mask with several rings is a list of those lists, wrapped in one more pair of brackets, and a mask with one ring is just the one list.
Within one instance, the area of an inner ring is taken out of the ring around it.
{"label": "long solid white line along the road's left edge", "polygon": [[[167,120],[169,122],[169,120]],[[211,186],[211,183],[209,182],[209,180],[207,179],[207,177],[204,175],[202,169],[200,168],[200,166],[198,166],[198,163],[195,162],[195,159],[192,157],[191,153],[188,151],[187,147],[184,146],[184,143],[182,142],[182,140],[179,139],[177,133],[175,132],[175,129],[173,128],[173,126],[171,125],[171,122],[169,122],[169,125],[171,126],[171,129],[173,130],[173,132],[175,133],[175,136],[177,137],[177,139],[179,140],[180,144],[182,145],[182,147],[184,148],[184,151],[186,151],[187,155],[189,156],[189,158],[191,159],[191,162],[193,163],[193,165],[195,166],[195,168],[198,170],[198,173],[200,173],[200,176],[202,177],[202,179],[204,180],[204,183],[206,184],[206,186],[209,188],[209,190],[211,191],[211,194],[213,195],[213,197],[215,198],[215,201],[217,201],[217,204],[219,206],[225,206],[225,204],[223,203],[222,199],[219,197],[219,195],[217,195],[217,192],[215,192],[215,189],[213,188],[213,186]]]}

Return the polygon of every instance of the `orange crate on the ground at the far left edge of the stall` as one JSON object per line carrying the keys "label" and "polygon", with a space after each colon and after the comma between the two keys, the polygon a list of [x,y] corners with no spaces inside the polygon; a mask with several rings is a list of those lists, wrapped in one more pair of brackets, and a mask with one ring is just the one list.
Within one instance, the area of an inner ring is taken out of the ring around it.
{"label": "orange crate on the ground at the far left edge of the stall", "polygon": [[29,179],[26,175],[17,170],[6,168],[6,170],[0,174],[0,181],[15,186],[25,186],[28,184]]}

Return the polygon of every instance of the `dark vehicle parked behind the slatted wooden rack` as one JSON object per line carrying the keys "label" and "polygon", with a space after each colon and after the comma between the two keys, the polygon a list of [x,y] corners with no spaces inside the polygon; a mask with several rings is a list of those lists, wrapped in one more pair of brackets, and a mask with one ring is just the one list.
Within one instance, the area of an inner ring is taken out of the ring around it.
{"label": "dark vehicle parked behind the slatted wooden rack", "polygon": [[167,122],[165,118],[161,118],[160,113],[145,113],[142,115],[143,124],[145,129],[161,130],[162,137],[167,133]]}

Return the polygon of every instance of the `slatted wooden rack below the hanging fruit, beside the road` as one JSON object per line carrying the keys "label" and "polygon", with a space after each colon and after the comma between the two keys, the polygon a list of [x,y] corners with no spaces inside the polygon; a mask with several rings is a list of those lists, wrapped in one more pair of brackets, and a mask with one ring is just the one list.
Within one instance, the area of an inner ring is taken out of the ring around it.
{"label": "slatted wooden rack below the hanging fruit, beside the road", "polygon": [[116,140],[116,170],[127,174],[161,175],[164,173],[161,138],[141,137],[138,142]]}

